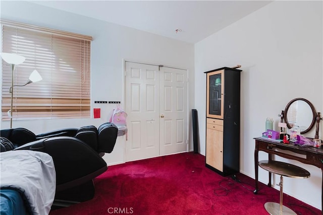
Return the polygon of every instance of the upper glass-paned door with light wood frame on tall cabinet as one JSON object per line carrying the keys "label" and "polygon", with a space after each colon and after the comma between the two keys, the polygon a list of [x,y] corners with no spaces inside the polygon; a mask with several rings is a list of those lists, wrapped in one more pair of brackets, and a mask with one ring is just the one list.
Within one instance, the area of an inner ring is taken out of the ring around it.
{"label": "upper glass-paned door with light wood frame on tall cabinet", "polygon": [[223,119],[224,70],[206,75],[206,117]]}

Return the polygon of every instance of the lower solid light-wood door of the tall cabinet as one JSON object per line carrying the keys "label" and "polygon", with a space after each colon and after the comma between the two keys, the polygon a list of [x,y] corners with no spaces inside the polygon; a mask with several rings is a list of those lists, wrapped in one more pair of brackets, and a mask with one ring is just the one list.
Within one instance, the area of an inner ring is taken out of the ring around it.
{"label": "lower solid light-wood door of the tall cabinet", "polygon": [[207,124],[206,128],[206,164],[223,172],[223,129],[213,126]]}

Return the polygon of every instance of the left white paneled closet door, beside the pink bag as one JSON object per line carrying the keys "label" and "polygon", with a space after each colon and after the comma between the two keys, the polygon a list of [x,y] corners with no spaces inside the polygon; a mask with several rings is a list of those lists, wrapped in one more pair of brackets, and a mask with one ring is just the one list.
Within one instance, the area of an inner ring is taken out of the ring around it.
{"label": "left white paneled closet door, beside the pink bag", "polygon": [[158,66],[126,62],[126,161],[159,155]]}

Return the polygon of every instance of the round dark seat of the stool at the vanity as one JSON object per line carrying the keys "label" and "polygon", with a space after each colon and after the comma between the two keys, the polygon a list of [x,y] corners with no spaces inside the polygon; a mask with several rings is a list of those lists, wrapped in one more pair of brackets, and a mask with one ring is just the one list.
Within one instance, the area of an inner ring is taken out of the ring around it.
{"label": "round dark seat of the stool at the vanity", "polygon": [[262,169],[275,173],[281,176],[292,177],[292,178],[309,178],[310,173],[292,164],[279,162],[277,160],[260,160],[259,167]]}

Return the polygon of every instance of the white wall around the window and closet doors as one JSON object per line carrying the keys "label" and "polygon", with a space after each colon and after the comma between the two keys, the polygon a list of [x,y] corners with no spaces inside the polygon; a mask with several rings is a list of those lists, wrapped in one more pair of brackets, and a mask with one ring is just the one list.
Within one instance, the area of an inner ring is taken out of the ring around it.
{"label": "white wall around the window and closet doors", "polygon": [[[121,101],[124,105],[124,60],[187,69],[188,76],[194,76],[193,44],[24,1],[1,1],[1,19],[93,37],[91,101],[92,108],[101,108],[101,118],[13,122],[14,127],[25,127],[36,134],[66,127],[99,126],[109,120],[116,105],[94,104],[94,101]],[[193,78],[189,80],[189,86],[191,87],[189,110],[191,110],[194,104]],[[1,128],[9,128],[9,122],[2,121]],[[192,134],[190,134],[190,139],[192,139],[191,136]],[[125,162],[124,146],[125,137],[119,137],[114,151],[104,156],[108,165]],[[192,141],[190,141],[191,148],[193,148]]]}

